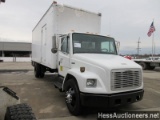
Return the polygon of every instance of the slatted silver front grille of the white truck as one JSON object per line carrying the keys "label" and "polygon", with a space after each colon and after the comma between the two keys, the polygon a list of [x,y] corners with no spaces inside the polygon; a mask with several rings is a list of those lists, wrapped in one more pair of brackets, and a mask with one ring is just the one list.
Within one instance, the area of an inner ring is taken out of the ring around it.
{"label": "slatted silver front grille of the white truck", "polygon": [[141,86],[142,76],[140,70],[112,70],[111,90],[125,90]]}

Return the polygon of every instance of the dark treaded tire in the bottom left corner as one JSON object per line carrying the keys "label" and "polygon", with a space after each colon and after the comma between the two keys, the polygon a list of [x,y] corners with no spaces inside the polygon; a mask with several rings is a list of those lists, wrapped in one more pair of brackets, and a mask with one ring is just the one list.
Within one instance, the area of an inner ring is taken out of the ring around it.
{"label": "dark treaded tire in the bottom left corner", "polygon": [[7,108],[4,120],[37,120],[32,108],[23,103]]}

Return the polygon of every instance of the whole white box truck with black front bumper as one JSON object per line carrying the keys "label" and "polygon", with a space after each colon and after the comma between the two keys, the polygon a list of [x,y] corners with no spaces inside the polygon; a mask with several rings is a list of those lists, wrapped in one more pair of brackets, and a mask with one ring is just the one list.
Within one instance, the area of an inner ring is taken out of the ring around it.
{"label": "whole white box truck with black front bumper", "polygon": [[73,115],[83,106],[117,107],[143,98],[142,68],[117,54],[114,38],[99,35],[101,14],[50,6],[33,29],[35,77],[57,72],[54,85],[65,92]]}

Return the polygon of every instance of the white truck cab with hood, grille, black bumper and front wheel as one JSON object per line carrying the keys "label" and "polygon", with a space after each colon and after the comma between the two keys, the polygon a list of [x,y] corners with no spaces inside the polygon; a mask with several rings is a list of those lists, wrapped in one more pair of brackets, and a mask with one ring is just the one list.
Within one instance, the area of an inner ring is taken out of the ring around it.
{"label": "white truck cab with hood, grille, black bumper and front wheel", "polygon": [[54,42],[55,86],[65,92],[72,114],[78,115],[82,106],[117,107],[142,99],[142,68],[117,54],[114,38],[70,33]]}

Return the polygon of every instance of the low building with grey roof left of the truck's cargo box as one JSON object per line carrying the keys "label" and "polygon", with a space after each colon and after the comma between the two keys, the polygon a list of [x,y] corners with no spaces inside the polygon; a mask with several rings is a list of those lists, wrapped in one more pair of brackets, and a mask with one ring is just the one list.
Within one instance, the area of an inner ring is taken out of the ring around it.
{"label": "low building with grey roof left of the truck's cargo box", "polygon": [[31,43],[0,41],[0,60],[8,62],[31,61]]}

